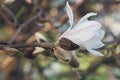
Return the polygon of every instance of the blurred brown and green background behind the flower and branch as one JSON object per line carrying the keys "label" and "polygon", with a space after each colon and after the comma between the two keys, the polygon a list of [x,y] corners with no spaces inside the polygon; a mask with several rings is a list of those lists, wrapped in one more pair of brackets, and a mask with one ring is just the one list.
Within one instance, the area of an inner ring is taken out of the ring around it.
{"label": "blurred brown and green background behind the flower and branch", "polygon": [[[55,42],[69,27],[66,1],[75,23],[85,14],[97,12],[89,19],[99,21],[106,32],[106,46],[100,49],[104,57],[74,52],[81,80],[120,80],[120,0],[0,0],[0,44],[33,43],[35,32]],[[51,50],[37,56],[33,55],[35,48],[20,50],[17,56],[0,50],[0,80],[78,80],[70,64],[59,61]]]}

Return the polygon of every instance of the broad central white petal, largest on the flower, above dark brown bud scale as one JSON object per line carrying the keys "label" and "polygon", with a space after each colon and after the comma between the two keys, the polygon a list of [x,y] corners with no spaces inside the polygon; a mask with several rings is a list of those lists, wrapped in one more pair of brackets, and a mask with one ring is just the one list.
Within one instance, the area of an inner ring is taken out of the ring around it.
{"label": "broad central white petal, largest on the flower, above dark brown bud scale", "polygon": [[63,37],[68,38],[74,43],[80,45],[82,41],[92,39],[100,27],[101,24],[96,21],[87,21],[76,29],[68,31],[65,35],[63,35]]}

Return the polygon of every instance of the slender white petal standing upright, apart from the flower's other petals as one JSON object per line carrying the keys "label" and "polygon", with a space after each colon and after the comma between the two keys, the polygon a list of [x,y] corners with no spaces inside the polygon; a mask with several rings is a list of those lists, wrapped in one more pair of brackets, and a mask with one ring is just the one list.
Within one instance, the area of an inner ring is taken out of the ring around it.
{"label": "slender white petal standing upright, apart from the flower's other petals", "polygon": [[67,15],[69,18],[70,27],[72,27],[73,26],[73,12],[68,2],[66,3],[66,11],[67,11]]}

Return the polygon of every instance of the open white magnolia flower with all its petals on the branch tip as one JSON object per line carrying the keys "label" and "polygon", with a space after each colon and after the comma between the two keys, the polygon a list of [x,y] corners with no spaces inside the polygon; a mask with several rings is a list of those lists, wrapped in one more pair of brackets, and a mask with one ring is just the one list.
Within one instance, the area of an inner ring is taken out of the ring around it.
{"label": "open white magnolia flower with all its petals on the branch tip", "polygon": [[95,49],[104,46],[104,43],[101,40],[103,39],[105,32],[101,29],[101,24],[99,22],[88,20],[90,16],[95,16],[97,13],[86,14],[73,26],[73,12],[68,2],[66,4],[66,11],[69,17],[70,27],[59,37],[59,40],[61,38],[69,39],[80,47],[84,47],[90,53],[97,56],[103,56],[103,54]]}

